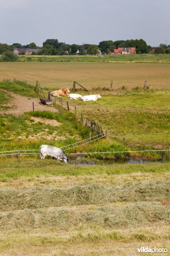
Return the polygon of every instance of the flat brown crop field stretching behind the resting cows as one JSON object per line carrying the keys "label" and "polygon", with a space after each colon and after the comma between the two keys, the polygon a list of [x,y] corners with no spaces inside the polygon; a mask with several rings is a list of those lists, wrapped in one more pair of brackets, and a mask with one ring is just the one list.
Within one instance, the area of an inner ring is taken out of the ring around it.
{"label": "flat brown crop field stretching behind the resting cows", "polygon": [[[126,86],[143,87],[144,81],[153,89],[170,89],[170,65],[163,63],[107,63],[107,62],[17,62],[0,63],[0,81],[17,79],[46,87],[71,88],[73,81],[88,89]],[[43,84],[45,83],[45,84]],[[46,84],[46,83],[51,83]],[[62,85],[63,84],[63,85]]]}

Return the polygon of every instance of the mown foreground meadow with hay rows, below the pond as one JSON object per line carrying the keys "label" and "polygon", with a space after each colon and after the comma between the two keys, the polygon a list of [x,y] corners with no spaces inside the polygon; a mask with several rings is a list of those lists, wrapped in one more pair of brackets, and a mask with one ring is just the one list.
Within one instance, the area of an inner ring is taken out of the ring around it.
{"label": "mown foreground meadow with hay rows, below the pond", "polygon": [[[5,160],[0,170],[2,255],[136,256],[141,246],[170,250],[169,221],[162,215],[170,204],[169,163],[92,170],[50,159],[22,159]],[[118,191],[126,197],[118,199]],[[140,195],[143,199],[136,203]]]}

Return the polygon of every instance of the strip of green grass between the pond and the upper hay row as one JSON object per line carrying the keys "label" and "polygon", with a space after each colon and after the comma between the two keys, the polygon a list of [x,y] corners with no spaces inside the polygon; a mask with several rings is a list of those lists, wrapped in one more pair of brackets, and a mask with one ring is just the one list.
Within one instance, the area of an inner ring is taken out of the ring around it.
{"label": "strip of green grass between the pond and the upper hay row", "polygon": [[164,173],[170,172],[170,163],[148,164],[113,164],[109,166],[71,166],[52,159],[21,158],[0,162],[0,180],[19,177],[40,177],[41,175],[96,175],[96,174],[127,174],[127,173]]}

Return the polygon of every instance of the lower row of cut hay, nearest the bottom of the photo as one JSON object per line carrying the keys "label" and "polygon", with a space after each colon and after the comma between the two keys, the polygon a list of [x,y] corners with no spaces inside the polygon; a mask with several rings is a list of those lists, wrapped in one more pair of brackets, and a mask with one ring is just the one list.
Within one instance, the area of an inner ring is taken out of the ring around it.
{"label": "lower row of cut hay, nearest the bottom of the photo", "polygon": [[64,209],[25,209],[0,213],[0,229],[56,227],[68,229],[81,224],[102,227],[134,227],[158,221],[170,223],[170,206],[153,203],[136,203],[126,207],[101,207],[92,211]]}

